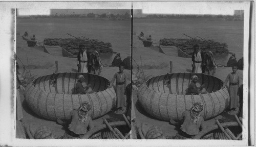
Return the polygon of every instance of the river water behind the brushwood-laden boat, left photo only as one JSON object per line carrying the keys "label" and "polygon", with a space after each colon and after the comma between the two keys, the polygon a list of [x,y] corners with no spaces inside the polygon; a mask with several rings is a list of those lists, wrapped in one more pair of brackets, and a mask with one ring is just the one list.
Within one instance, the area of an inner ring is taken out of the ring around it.
{"label": "river water behind the brushwood-laden boat, left photo only", "polygon": [[[122,60],[131,56],[131,21],[112,21],[107,19],[80,18],[44,18],[17,19],[17,32],[23,35],[27,31],[35,34],[36,40],[43,42],[45,38],[73,38],[67,33],[90,39],[110,42],[114,52],[121,54]],[[101,54],[104,64],[110,64],[115,54]]]}

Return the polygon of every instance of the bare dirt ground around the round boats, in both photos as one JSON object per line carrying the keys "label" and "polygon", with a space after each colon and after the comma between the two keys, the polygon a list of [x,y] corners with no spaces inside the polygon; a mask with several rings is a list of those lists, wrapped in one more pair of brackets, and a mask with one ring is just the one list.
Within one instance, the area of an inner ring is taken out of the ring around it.
{"label": "bare dirt ground around the round boats, in both photos", "polygon": [[[191,72],[191,59],[167,56],[151,50],[149,47],[144,47],[143,43],[138,40],[137,37],[133,36],[133,59],[140,66],[142,65],[145,75],[158,76],[169,72],[169,61],[173,61],[173,72]],[[156,44],[155,44],[156,45]],[[21,36],[17,35],[16,42],[16,55],[17,62],[19,65],[25,64],[27,68],[30,69],[32,76],[44,76],[50,75],[55,72],[55,61],[58,61],[58,72],[76,72],[77,71],[77,59],[67,58],[60,56],[52,56],[50,54],[44,53],[44,50],[40,46],[28,47],[27,42],[22,39]],[[20,60],[22,61],[20,61]],[[28,66],[29,65],[29,66]],[[135,62],[133,66],[136,67]],[[136,68],[135,68],[136,70]],[[103,67],[101,76],[109,79],[111,81],[115,72],[118,71],[118,67]],[[130,70],[126,70],[125,73],[129,75]],[[221,80],[225,80],[228,73],[231,72],[230,67],[218,67],[216,72],[216,77]],[[243,70],[237,71],[240,76],[240,83],[243,81]],[[32,112],[24,100],[23,91],[20,92],[20,99],[23,106],[23,122],[30,122],[32,124],[45,125],[52,130],[55,135],[63,135],[65,130],[62,126],[56,124],[55,121],[47,120],[37,116]],[[177,128],[175,126],[169,125],[168,122],[158,120],[147,114],[140,106],[137,101],[136,91],[133,91],[133,102],[135,105],[136,118],[134,119],[134,124],[139,126],[142,122],[148,125],[159,126],[166,136],[174,136],[177,133]],[[110,111],[108,114],[101,118],[93,120],[95,126],[103,124],[102,118],[114,117],[122,120],[122,112],[115,113]],[[233,119],[233,115],[228,115],[227,113],[222,113],[217,116],[217,118],[230,118]],[[215,118],[206,121],[207,126],[215,124]]]}

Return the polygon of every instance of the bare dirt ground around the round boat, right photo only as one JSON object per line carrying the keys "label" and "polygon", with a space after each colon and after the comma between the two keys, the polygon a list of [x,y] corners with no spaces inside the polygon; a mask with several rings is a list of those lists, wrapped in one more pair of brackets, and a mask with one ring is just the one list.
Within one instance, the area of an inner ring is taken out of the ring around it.
{"label": "bare dirt ground around the round boat, right photo only", "polygon": [[[155,44],[153,41],[153,45]],[[155,48],[154,48],[155,49]],[[162,53],[158,53],[155,50],[151,50],[151,47],[144,47],[142,41],[138,37],[133,36],[133,59],[140,66],[142,65],[145,75],[148,76],[158,76],[164,75],[169,72],[169,61],[173,62],[173,72],[191,72],[191,59],[190,58],[181,58],[175,56],[167,56]],[[133,66],[136,67],[136,63],[133,60]],[[136,68],[135,68],[136,70]],[[226,76],[229,72],[232,72],[231,67],[218,67],[216,71],[216,77],[220,78],[222,81],[225,81]],[[240,77],[240,83],[243,83],[243,70],[237,71]],[[134,119],[134,124],[139,126],[142,122],[148,124],[148,126],[159,126],[166,136],[175,136],[178,132],[178,128],[172,126],[167,121],[162,121],[157,118],[152,117],[150,114],[147,114],[143,108],[141,108],[139,102],[137,101],[137,91],[133,91],[133,102],[135,105],[135,114],[136,118]],[[216,119],[227,118],[235,120],[234,115],[229,115],[226,112],[223,112],[221,115],[206,120],[206,126],[212,126],[215,124]]]}

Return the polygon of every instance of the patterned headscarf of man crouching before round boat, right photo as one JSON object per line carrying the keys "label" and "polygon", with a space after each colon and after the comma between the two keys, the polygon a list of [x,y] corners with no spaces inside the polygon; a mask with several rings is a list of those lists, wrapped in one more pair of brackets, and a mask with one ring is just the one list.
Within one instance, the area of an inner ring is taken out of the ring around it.
{"label": "patterned headscarf of man crouching before round boat, right photo", "polygon": [[200,114],[203,110],[203,105],[200,102],[196,102],[193,104],[192,108],[190,109],[190,120],[193,122],[193,124],[197,124]]}

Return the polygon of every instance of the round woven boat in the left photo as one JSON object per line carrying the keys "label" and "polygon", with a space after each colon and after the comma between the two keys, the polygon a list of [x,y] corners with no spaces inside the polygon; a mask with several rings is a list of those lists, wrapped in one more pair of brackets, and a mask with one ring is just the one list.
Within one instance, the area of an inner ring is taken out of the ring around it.
{"label": "round woven boat in the left photo", "polygon": [[[94,93],[72,94],[77,77],[83,75],[86,84],[91,84]],[[103,116],[116,105],[114,88],[108,88],[110,82],[98,75],[88,73],[58,73],[42,76],[29,84],[25,90],[25,99],[30,109],[37,115],[56,120],[68,119],[73,109],[79,108],[84,101],[91,103],[92,119]]]}

